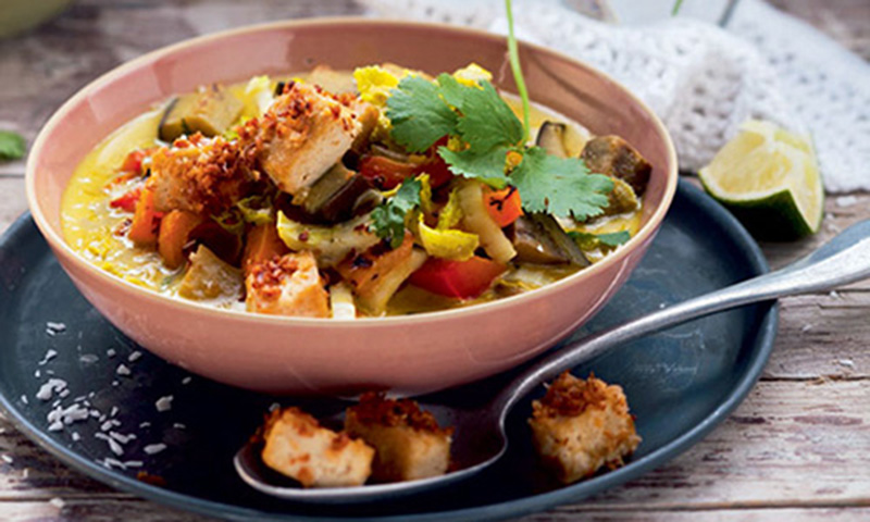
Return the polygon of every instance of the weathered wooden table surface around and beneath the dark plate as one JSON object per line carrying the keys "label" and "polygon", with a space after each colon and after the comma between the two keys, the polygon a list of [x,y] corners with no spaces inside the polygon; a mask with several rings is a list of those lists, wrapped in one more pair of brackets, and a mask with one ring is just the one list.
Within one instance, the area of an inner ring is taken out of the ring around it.
{"label": "weathered wooden table surface around and beneath the dark plate", "polygon": [[[870,59],[868,0],[773,3]],[[362,11],[352,0],[82,0],[39,30],[0,41],[0,128],[32,140],[83,85],[184,38]],[[0,231],[26,209],[23,176],[23,161],[0,163]],[[870,194],[852,196],[828,198],[817,237],[763,245],[771,264],[870,217]],[[761,381],[706,439],[639,480],[524,520],[870,520],[869,314],[870,283],[784,300]],[[203,520],[66,468],[1,417],[0,456],[0,520]]]}

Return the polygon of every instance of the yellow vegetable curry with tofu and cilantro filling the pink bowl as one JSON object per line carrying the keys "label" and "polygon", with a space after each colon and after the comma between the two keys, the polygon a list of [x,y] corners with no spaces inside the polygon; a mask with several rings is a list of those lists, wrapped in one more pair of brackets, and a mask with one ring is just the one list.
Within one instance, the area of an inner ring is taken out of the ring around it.
{"label": "yellow vegetable curry with tofu and cilantro filling the pink bowl", "polygon": [[534,290],[620,248],[650,165],[544,107],[526,128],[489,79],[319,66],[181,95],[82,161],[65,239],[167,296],[337,319]]}

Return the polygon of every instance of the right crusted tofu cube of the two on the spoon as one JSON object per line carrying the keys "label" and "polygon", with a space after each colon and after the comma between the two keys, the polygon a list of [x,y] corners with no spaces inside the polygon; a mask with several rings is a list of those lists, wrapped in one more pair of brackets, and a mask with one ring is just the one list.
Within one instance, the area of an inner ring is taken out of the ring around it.
{"label": "right crusted tofu cube of the two on the spoon", "polygon": [[450,463],[452,428],[438,426],[413,400],[369,393],[347,409],[345,431],[375,448],[372,480],[400,482],[443,475]]}

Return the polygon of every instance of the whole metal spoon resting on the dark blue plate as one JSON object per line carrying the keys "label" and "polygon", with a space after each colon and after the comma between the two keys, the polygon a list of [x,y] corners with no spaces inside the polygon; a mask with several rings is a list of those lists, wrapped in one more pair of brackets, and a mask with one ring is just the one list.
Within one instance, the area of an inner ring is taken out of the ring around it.
{"label": "whole metal spoon resting on the dark blue plate", "polygon": [[[775,272],[570,343],[531,365],[495,398],[483,405],[469,405],[469,395],[465,394],[459,394],[459,397],[455,394],[451,399],[449,391],[436,394],[435,397],[440,396],[438,402],[421,399],[420,406],[431,411],[442,425],[455,428],[451,459],[456,471],[445,475],[391,484],[304,489],[294,486],[289,480],[269,470],[251,444],[236,453],[236,471],[246,483],[260,492],[301,502],[369,502],[452,484],[483,471],[505,455],[508,447],[505,419],[508,412],[525,394],[564,370],[593,359],[614,346],[693,319],[753,302],[825,290],[867,277],[870,277],[870,221],[850,226],[811,254]],[[444,397],[448,398],[445,400]],[[350,403],[343,405],[332,400],[334,414],[321,411],[315,417],[325,419],[325,423],[330,420],[339,422],[344,408]]]}

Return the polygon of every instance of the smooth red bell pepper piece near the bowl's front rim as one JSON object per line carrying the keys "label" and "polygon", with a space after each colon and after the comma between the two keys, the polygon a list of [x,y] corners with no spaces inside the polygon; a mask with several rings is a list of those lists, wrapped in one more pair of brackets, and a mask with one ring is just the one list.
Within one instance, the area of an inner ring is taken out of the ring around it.
{"label": "smooth red bell pepper piece near the bowl's front rim", "polygon": [[504,264],[480,256],[468,261],[428,258],[409,281],[439,296],[472,299],[489,288],[506,269]]}

